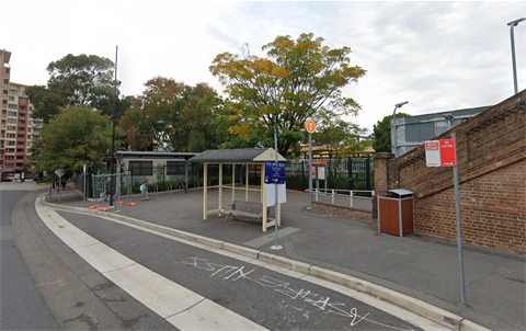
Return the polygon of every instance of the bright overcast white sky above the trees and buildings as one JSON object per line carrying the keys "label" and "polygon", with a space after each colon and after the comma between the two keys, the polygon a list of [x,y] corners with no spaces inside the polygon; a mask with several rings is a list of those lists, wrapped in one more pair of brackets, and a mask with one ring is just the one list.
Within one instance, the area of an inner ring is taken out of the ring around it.
{"label": "bright overcast white sky above the trees and buildings", "polygon": [[[401,111],[420,115],[496,104],[513,95],[510,27],[526,1],[157,1],[0,0],[0,48],[11,81],[46,84],[67,54],[115,60],[121,93],[138,95],[156,76],[208,82],[216,55],[253,55],[278,35],[313,33],[348,46],[367,70],[344,89],[362,105],[347,118],[365,128]],[[514,28],[518,90],[526,89],[526,21]]]}

